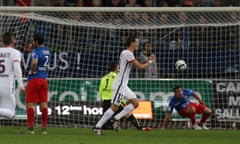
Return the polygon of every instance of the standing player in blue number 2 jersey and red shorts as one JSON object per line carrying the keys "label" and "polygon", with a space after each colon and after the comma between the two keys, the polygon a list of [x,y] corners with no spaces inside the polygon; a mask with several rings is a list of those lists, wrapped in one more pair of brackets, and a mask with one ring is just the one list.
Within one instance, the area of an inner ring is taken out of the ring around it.
{"label": "standing player in blue number 2 jersey and red shorts", "polygon": [[44,37],[34,34],[32,45],[31,68],[28,73],[26,87],[27,125],[28,134],[34,134],[34,103],[40,103],[42,112],[42,134],[47,134],[48,121],[48,82],[47,69],[50,60],[50,51],[44,46]]}

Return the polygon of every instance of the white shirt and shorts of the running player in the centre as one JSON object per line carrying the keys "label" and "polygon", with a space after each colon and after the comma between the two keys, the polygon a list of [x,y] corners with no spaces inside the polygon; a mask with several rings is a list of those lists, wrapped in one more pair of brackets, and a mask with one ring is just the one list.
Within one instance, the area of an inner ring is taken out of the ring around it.
{"label": "white shirt and shorts of the running player in the centre", "polygon": [[119,60],[119,71],[116,80],[113,83],[112,103],[120,105],[122,99],[136,98],[136,94],[127,86],[129,75],[132,69],[132,62],[135,56],[129,50],[123,50]]}

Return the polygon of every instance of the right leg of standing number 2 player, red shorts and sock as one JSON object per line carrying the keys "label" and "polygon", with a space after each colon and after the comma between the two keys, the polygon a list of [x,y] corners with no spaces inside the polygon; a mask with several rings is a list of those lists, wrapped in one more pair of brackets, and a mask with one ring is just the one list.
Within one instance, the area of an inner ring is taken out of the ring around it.
{"label": "right leg of standing number 2 player, red shorts and sock", "polygon": [[39,89],[39,100],[40,100],[40,109],[42,112],[42,133],[47,134],[47,122],[48,122],[48,83],[46,79],[40,79],[41,82],[40,89]]}

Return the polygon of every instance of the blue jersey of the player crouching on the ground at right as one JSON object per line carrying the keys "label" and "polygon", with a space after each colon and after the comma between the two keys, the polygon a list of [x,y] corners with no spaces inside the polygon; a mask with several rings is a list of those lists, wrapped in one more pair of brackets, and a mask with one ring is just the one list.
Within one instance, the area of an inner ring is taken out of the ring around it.
{"label": "blue jersey of the player crouching on the ground at right", "polygon": [[193,90],[183,89],[182,98],[177,98],[175,96],[172,96],[169,101],[167,111],[172,112],[174,108],[176,109],[176,111],[186,108],[190,103],[190,97],[192,95],[193,95]]}

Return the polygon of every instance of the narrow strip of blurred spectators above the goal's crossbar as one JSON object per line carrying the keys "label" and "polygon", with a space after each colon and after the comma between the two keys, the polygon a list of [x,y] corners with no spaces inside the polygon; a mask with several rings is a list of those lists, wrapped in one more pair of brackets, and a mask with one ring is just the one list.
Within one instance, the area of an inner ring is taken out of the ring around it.
{"label": "narrow strip of blurred spectators above the goal's crossbar", "polygon": [[[135,4],[134,4],[135,3]],[[105,6],[105,7],[220,7],[240,6],[239,0],[1,0],[0,6]]]}

